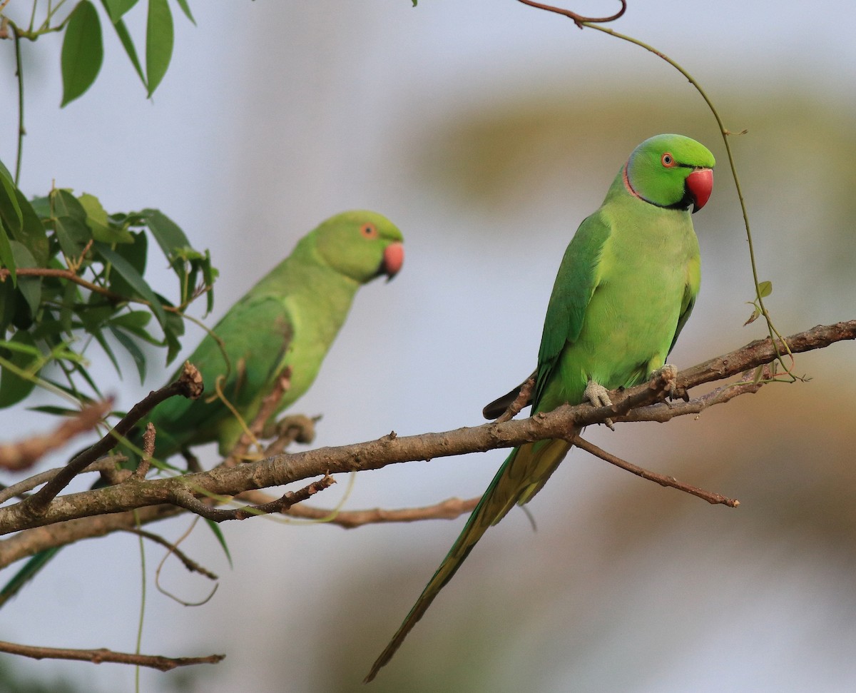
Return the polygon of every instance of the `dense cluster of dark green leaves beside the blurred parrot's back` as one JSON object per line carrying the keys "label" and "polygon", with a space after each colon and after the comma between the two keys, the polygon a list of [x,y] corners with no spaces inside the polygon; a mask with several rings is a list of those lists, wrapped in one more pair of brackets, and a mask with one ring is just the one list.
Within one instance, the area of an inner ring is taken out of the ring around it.
{"label": "dense cluster of dark green leaves beside the blurred parrot's back", "polygon": [[[177,278],[175,302],[144,278],[150,238]],[[172,361],[184,309],[206,296],[211,310],[216,277],[208,251],[163,212],[108,213],[95,196],[63,188],[27,200],[0,163],[0,408],[37,384],[86,400],[85,384],[101,397],[86,370],[93,343],[120,375],[121,347],[145,378],[144,345]]]}

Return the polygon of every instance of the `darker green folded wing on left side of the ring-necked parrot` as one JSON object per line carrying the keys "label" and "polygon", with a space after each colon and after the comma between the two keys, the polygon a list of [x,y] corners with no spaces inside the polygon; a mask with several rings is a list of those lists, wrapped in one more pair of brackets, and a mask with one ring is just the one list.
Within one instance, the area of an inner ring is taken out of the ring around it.
{"label": "darker green folded wing on left side of the ring-necked parrot", "polygon": [[612,226],[603,217],[603,212],[598,210],[583,220],[568,244],[556,274],[538,350],[538,369],[532,395],[532,403],[536,407],[553,376],[562,349],[580,337],[586,308],[600,282],[601,254],[612,235]]}

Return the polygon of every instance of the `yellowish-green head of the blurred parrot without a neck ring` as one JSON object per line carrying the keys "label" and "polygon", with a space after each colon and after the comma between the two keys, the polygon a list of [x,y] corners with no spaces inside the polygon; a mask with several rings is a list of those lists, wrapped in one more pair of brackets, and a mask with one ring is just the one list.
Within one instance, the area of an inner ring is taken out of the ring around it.
{"label": "yellowish-green head of the blurred parrot without a neck ring", "polygon": [[404,236],[377,212],[355,210],[318,226],[316,248],[327,265],[360,284],[385,274],[395,277],[404,263]]}

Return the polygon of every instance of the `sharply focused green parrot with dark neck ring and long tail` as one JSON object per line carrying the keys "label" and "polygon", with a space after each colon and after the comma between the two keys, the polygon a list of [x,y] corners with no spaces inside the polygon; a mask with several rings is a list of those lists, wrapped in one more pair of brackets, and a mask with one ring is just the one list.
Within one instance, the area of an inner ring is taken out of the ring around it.
{"label": "sharply focused green parrot with dark neck ring and long tail", "polygon": [[[580,224],[562,258],[544,319],[532,414],[631,387],[663,367],[693,309],[700,280],[697,212],[713,188],[713,155],[679,134],[633,150],[603,204]],[[485,407],[501,414],[520,387]],[[375,678],[455,575],[487,529],[544,487],[571,445],[540,440],[514,448],[461,535],[366,676]]]}

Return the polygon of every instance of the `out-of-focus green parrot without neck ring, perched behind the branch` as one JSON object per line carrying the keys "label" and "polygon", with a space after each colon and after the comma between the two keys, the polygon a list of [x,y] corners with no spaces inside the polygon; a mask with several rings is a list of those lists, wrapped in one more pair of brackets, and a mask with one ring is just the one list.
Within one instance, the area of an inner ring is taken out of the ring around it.
{"label": "out-of-focus green parrot without neck ring, perched behind the branch", "polygon": [[[149,415],[158,432],[155,457],[166,460],[215,440],[221,455],[229,453],[243,427],[217,397],[218,379],[223,397],[247,425],[286,368],[288,390],[274,415],[294,403],[318,375],[360,286],[384,274],[391,279],[401,269],[402,242],[389,219],[365,211],[337,214],[301,238],[288,258],[214,326],[222,348],[209,334],[188,357],[202,373],[205,393],[195,400],[172,397]],[[138,447],[141,428],[131,436]],[[0,590],[0,606],[57,551],[47,549],[28,560]]]}

